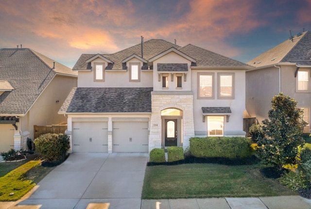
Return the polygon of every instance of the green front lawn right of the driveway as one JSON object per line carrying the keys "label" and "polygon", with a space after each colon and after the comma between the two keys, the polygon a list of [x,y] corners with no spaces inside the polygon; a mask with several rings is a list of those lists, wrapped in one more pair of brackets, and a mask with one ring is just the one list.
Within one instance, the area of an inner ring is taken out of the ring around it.
{"label": "green front lawn right of the driveway", "polygon": [[259,163],[189,163],[147,166],[142,199],[296,195],[264,177]]}

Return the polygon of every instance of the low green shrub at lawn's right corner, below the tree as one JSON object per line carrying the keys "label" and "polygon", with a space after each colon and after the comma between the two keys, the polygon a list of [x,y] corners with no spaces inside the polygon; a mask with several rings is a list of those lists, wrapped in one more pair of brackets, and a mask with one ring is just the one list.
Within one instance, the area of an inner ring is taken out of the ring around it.
{"label": "low green shrub at lawn's right corner, below the tree", "polygon": [[298,189],[306,189],[309,185],[309,182],[306,180],[302,172],[295,173],[289,171],[288,173],[283,174],[278,181],[283,186],[290,188],[293,191]]}

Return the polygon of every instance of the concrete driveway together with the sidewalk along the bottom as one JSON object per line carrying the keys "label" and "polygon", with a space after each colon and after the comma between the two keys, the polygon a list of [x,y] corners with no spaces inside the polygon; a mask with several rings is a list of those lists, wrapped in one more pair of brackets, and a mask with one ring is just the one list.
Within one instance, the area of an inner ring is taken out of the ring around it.
{"label": "concrete driveway together with the sidewalk along the bottom", "polygon": [[73,153],[0,209],[311,209],[300,196],[141,200],[147,153]]}

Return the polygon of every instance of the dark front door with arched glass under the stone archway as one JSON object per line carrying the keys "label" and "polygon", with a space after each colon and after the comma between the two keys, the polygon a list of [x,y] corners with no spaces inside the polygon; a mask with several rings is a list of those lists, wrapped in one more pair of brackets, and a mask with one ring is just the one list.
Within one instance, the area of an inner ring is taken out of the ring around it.
{"label": "dark front door with arched glass under the stone archway", "polygon": [[165,146],[177,146],[177,119],[165,119]]}

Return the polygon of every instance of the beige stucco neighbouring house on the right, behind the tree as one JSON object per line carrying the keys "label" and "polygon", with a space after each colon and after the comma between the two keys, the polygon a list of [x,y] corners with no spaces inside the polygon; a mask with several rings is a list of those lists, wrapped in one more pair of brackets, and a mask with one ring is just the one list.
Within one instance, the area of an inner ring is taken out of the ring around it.
{"label": "beige stucco neighbouring house on the right, behind the tree", "polygon": [[[294,98],[297,107],[304,110],[304,120],[310,124],[311,108],[311,32],[290,37],[247,64],[246,110],[261,123],[268,118],[271,99],[279,92]],[[304,128],[310,132],[310,126]]]}

